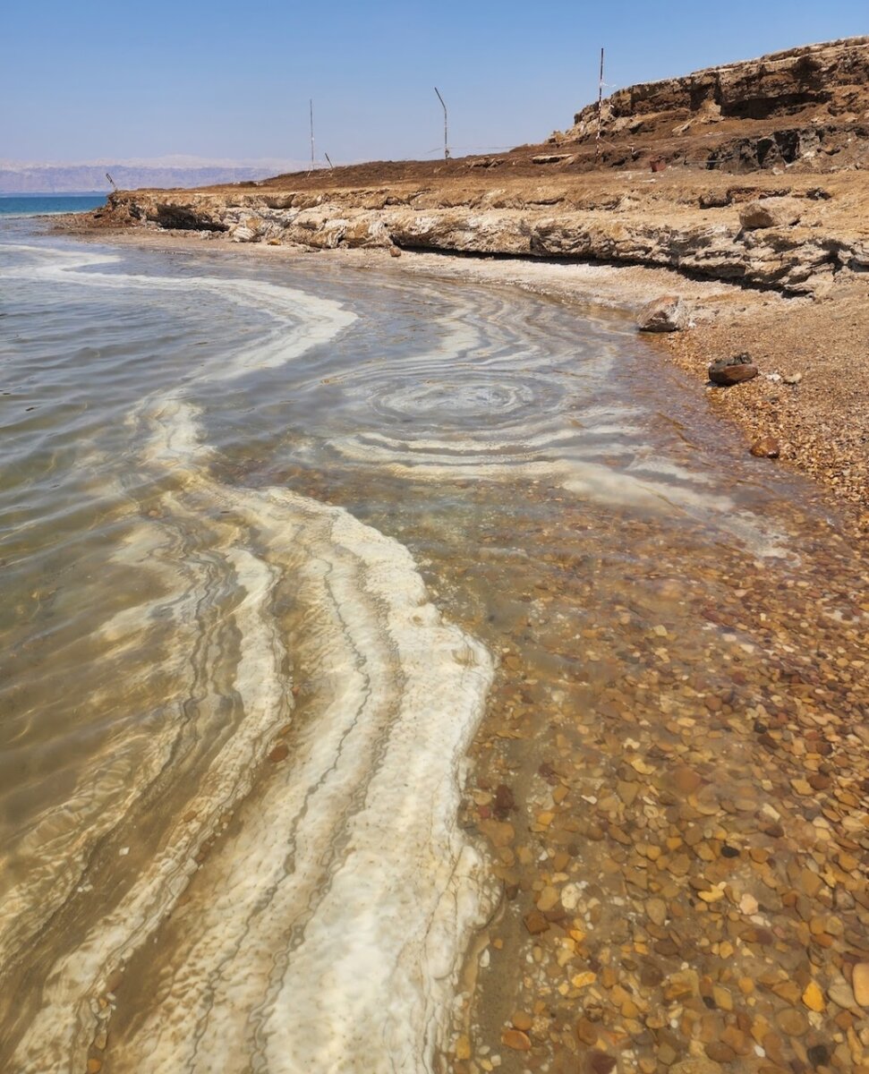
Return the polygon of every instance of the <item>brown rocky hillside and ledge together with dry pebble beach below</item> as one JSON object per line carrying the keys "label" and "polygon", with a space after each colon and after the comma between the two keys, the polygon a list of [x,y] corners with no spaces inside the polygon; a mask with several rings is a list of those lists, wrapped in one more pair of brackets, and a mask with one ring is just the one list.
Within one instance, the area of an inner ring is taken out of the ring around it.
{"label": "brown rocky hillside and ledge together with dry pebble beach below", "polygon": [[[288,252],[522,258],[550,266],[539,289],[556,293],[570,290],[557,279],[567,264],[656,274],[662,292],[693,304],[692,326],[663,349],[703,381],[710,361],[751,352],[761,376],[710,391],[713,405],[866,510],[867,163],[864,38],[620,90],[599,136],[591,107],[566,133],[498,157],[120,191],[88,227]],[[720,287],[710,294],[697,281]],[[626,281],[623,302],[638,304],[650,286]]]}

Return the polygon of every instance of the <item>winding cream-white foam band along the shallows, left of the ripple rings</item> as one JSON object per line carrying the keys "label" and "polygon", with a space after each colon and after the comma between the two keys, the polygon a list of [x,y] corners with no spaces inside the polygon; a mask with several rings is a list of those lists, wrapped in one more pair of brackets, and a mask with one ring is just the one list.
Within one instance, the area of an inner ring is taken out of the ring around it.
{"label": "winding cream-white foam band along the shallows, left of the ripple rings", "polygon": [[[48,272],[74,266],[68,260]],[[178,286],[92,273],[77,280]],[[290,345],[281,319],[281,331],[234,368],[206,369],[211,380],[274,367],[351,319],[334,303],[270,285],[190,282],[276,316],[283,301],[291,316],[305,317],[302,331],[293,324]],[[169,393],[146,401],[131,421],[150,429],[143,464],[174,471],[163,507],[176,523],[186,513],[232,517],[232,524],[214,523],[214,548],[246,593],[234,612],[242,638],[234,686],[245,716],[191,802],[197,822],[178,822],[115,910],[58,959],[16,1069],[84,1065],[98,1025],[89,1001],[172,910],[195,871],[195,846],[249,790],[288,714],[284,639],[271,608],[292,564],[317,601],[324,674],[339,688],[306,749],[266,788],[258,817],[248,817],[191,889],[201,904],[186,911],[187,942],[173,952],[177,987],[140,1032],[117,1047],[113,1041],[113,1061],[131,1070],[232,1070],[237,1042],[249,1048],[237,1053],[240,1070],[251,1060],[270,1071],[429,1070],[482,910],[481,861],[457,826],[458,775],[491,659],[441,620],[396,541],[285,490],[248,492],[212,480],[197,418]],[[280,938],[292,949],[277,959]]]}

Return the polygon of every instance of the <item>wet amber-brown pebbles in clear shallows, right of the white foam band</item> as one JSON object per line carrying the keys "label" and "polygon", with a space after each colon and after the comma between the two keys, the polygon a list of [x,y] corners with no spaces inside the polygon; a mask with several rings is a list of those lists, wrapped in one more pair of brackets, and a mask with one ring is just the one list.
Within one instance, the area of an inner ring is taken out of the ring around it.
{"label": "wet amber-brown pebbles in clear shallows, right of the white foam band", "polygon": [[869,562],[811,495],[777,509],[798,562],[518,482],[424,568],[499,662],[453,1074],[866,1069]]}

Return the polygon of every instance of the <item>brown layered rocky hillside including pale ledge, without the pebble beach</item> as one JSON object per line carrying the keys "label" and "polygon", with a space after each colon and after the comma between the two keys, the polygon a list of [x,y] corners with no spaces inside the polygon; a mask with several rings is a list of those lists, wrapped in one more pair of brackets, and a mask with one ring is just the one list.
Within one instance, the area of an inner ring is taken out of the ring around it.
{"label": "brown layered rocky hillside including pale ledge, without the pebble beach", "polygon": [[[304,249],[621,262],[790,294],[869,270],[855,172],[869,163],[869,38],[620,90],[599,141],[596,106],[576,119],[559,151],[119,192],[99,222]],[[747,170],[750,182],[727,174]]]}

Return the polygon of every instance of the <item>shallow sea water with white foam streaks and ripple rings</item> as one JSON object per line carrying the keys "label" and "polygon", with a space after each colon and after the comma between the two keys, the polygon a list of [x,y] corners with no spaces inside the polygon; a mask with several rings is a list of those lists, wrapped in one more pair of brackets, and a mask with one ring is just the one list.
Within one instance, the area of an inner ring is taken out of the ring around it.
{"label": "shallow sea water with white foam streaks and ripple rings", "polygon": [[691,638],[825,520],[620,315],[20,220],[0,289],[3,1069],[434,1070],[493,676],[596,659],[553,554]]}

